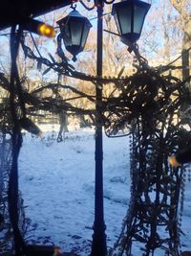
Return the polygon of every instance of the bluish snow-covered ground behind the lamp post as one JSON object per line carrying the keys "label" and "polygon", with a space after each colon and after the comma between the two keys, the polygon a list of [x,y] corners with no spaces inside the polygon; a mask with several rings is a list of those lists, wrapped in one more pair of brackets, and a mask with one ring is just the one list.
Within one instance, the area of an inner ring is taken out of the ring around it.
{"label": "bluish snow-covered ground behind the lamp post", "polygon": [[[90,129],[71,131],[61,143],[56,143],[53,130],[42,139],[30,134],[24,136],[19,157],[19,185],[27,206],[26,216],[32,220],[33,230],[28,234],[28,241],[53,242],[63,251],[74,250],[80,256],[90,253],[95,199],[94,134]],[[117,241],[130,198],[128,140],[128,137],[104,136],[103,141],[108,247]],[[190,184],[186,185],[185,197],[183,250],[190,249]]]}

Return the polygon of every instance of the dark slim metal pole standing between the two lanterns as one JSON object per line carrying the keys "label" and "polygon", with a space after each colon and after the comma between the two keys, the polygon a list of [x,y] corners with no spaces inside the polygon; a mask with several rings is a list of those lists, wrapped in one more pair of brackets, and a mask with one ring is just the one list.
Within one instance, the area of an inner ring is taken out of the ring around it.
{"label": "dark slim metal pole standing between the two lanterns", "polygon": [[[102,40],[103,40],[103,0],[96,1],[97,7],[97,59],[96,75],[102,76]],[[100,120],[102,101],[102,82],[96,86],[96,188],[95,188],[95,222],[92,244],[92,256],[107,255],[107,244],[105,235],[105,222],[103,211],[103,137]]]}

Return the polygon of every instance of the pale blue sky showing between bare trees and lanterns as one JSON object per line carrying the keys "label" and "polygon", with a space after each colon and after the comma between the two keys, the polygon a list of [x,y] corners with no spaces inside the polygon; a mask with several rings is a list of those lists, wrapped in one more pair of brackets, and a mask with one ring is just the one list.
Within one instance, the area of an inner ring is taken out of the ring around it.
{"label": "pale blue sky showing between bare trees and lanterns", "polygon": [[[163,38],[163,33],[160,27],[160,23],[161,23],[161,13],[160,13],[160,9],[163,6],[163,4],[165,3],[163,0],[153,0],[153,1],[147,1],[149,3],[151,3],[151,9],[148,12],[148,14],[146,15],[145,18],[145,22],[144,22],[144,26],[143,26],[143,30],[142,30],[142,35],[140,36],[139,40],[138,40],[138,45],[140,48],[140,52],[142,53],[142,55],[145,58],[148,59],[153,59],[153,58],[157,58],[159,61],[159,64],[162,64],[163,62],[163,58],[165,58],[165,56],[162,55],[162,47],[164,44],[164,38]],[[106,5],[107,7],[107,5]],[[96,10],[94,10],[93,12],[88,12],[86,11],[81,4],[77,4],[77,11],[81,12],[84,15],[89,16],[91,23],[93,24],[93,28],[91,29],[92,31],[96,32]],[[70,9],[70,7],[66,7],[66,8],[62,8],[58,11],[56,11],[55,13],[51,12],[48,13],[46,15],[43,15],[41,17],[39,17],[39,19],[45,20],[48,23],[50,23],[51,25],[54,25],[57,27],[56,23],[53,23],[53,20],[56,21],[57,19],[60,19],[63,15],[66,16],[67,13],[71,12],[72,9]],[[177,13],[175,12],[174,9],[172,9],[173,12],[171,12],[171,15],[176,15]],[[110,12],[110,11],[109,11]],[[172,14],[174,13],[174,14]],[[158,16],[158,19],[156,19],[155,17]],[[57,18],[56,18],[57,17]],[[115,25],[116,27],[116,25]],[[112,31],[117,32],[115,27],[112,28]],[[104,25],[104,28],[105,25]],[[58,29],[56,29],[57,32],[59,32]],[[175,28],[171,28],[171,30],[169,30],[169,35],[171,38],[175,38],[175,44],[171,47],[171,60],[173,60],[175,58],[176,55],[180,54],[180,48],[179,48],[179,44],[180,44],[180,36],[177,35],[173,32],[176,32],[176,27]],[[0,33],[0,69],[2,71],[4,71],[5,69],[9,69],[8,63],[10,62],[10,51],[9,51],[9,37],[8,36],[4,36],[2,34],[7,34],[9,33],[9,31],[2,31]],[[103,33],[103,35],[107,35],[106,32]],[[33,35],[34,38],[38,38],[38,35]],[[89,42],[91,40],[91,34],[87,39],[87,42]],[[115,36],[115,40],[119,41],[119,38],[117,36]],[[96,42],[95,42],[96,43]],[[169,42],[170,43],[170,42]],[[119,43],[120,47],[121,47],[121,51],[127,52],[127,47],[124,47],[123,43]],[[5,47],[6,46],[6,47]],[[64,44],[62,45],[63,50],[65,51],[65,47]],[[40,52],[41,54],[45,57],[45,58],[49,58],[48,57],[48,53],[51,53],[53,56],[55,56],[55,52],[56,52],[56,40],[54,39],[47,39],[47,38],[43,38],[43,45],[40,46]],[[66,53],[67,56],[70,58],[71,63],[77,67],[78,70],[80,70],[80,66],[78,65],[78,62],[76,61],[75,63],[71,60],[72,56],[68,53]],[[86,55],[88,53],[81,53],[78,55],[78,59],[83,60],[84,58],[86,58]],[[159,59],[159,56],[161,57]],[[96,57],[95,57],[96,58]],[[127,60],[128,61],[128,60]],[[36,72],[36,71],[35,71]],[[33,76],[32,73],[35,74],[34,71],[31,71],[28,75],[29,76]],[[45,77],[46,79],[46,77]]]}

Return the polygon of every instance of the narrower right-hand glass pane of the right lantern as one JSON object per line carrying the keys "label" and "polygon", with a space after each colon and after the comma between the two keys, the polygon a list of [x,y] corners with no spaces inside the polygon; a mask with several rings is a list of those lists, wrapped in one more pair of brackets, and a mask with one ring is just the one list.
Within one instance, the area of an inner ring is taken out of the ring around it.
{"label": "narrower right-hand glass pane of the right lantern", "polygon": [[134,6],[134,33],[140,34],[146,10],[140,6]]}

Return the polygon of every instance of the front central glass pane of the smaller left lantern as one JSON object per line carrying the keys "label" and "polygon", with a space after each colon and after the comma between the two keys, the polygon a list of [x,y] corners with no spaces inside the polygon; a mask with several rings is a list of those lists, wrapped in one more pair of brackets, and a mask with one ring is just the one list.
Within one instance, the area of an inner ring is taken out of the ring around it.
{"label": "front central glass pane of the smaller left lantern", "polygon": [[73,45],[81,45],[81,34],[83,33],[83,23],[81,21],[70,20],[70,29]]}

